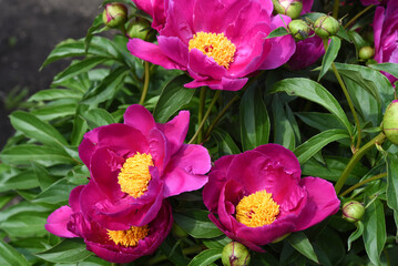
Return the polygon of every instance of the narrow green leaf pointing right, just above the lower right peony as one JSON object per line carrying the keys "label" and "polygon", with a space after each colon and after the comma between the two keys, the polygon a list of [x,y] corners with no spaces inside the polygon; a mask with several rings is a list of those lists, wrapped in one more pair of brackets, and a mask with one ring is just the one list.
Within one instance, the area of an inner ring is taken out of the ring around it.
{"label": "narrow green leaf pointing right, just above the lower right peony", "polygon": [[298,162],[300,164],[304,164],[310,157],[313,157],[317,152],[319,152],[324,146],[326,146],[330,142],[338,141],[341,139],[349,139],[347,131],[345,130],[324,131],[310,137],[302,145],[297,146],[294,153],[296,154]]}

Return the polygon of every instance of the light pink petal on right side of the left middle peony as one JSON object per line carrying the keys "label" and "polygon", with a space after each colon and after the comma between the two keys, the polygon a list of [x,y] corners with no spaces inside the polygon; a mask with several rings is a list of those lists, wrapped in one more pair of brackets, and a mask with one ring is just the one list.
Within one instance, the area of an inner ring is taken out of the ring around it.
{"label": "light pink petal on right side of the left middle peony", "polygon": [[163,175],[164,197],[201,188],[207,183],[211,158],[205,147],[183,144]]}

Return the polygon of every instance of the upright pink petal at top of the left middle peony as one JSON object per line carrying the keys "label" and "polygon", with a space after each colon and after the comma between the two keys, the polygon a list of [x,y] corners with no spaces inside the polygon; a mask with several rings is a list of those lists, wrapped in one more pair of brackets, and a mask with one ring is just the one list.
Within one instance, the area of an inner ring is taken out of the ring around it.
{"label": "upright pink petal at top of the left middle peony", "polygon": [[130,105],[124,113],[124,124],[127,124],[143,135],[147,135],[155,127],[155,121],[150,111],[140,104]]}

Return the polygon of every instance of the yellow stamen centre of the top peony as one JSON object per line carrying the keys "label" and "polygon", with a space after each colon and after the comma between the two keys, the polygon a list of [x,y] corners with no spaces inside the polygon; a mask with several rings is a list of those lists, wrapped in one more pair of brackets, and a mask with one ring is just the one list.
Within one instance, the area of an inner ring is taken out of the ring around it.
{"label": "yellow stamen centre of the top peony", "polygon": [[229,68],[229,63],[234,62],[234,54],[236,47],[232,43],[224,33],[207,33],[200,31],[190,40],[191,49],[198,49],[204,54],[213,58],[214,61],[224,66]]}

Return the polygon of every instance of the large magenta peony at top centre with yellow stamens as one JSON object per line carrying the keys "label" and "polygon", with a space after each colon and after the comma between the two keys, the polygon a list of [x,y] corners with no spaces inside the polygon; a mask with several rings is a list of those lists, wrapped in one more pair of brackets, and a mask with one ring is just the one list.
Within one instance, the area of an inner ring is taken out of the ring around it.
{"label": "large magenta peony at top centre with yellow stamens", "polygon": [[165,4],[157,44],[131,39],[127,48],[165,69],[187,71],[194,81],[186,88],[239,90],[247,75],[284,64],[295,51],[290,35],[265,39],[290,21],[272,17],[271,0],[169,0]]}

